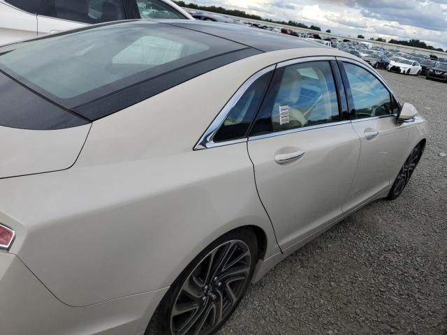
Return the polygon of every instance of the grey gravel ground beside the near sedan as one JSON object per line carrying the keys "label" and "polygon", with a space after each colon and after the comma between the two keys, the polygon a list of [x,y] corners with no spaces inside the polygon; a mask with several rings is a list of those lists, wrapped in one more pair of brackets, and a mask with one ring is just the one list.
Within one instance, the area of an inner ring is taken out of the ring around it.
{"label": "grey gravel ground beside the near sedan", "polygon": [[380,72],[430,124],[406,190],[286,258],[219,334],[447,334],[447,84]]}

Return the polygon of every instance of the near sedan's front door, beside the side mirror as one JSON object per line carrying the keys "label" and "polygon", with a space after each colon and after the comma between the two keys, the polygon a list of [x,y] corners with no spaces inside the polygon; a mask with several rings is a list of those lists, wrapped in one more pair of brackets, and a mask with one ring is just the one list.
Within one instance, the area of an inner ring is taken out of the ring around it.
{"label": "near sedan's front door, beside the side mirror", "polygon": [[406,156],[408,124],[397,122],[399,105],[379,75],[353,61],[339,61],[353,119],[360,136],[360,160],[344,211],[374,198],[394,181]]}

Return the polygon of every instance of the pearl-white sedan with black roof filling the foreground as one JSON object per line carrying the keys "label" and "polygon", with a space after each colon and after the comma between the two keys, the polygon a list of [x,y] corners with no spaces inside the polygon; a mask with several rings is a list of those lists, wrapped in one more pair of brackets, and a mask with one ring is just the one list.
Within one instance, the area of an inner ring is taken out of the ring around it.
{"label": "pearl-white sedan with black roof filling the foreground", "polygon": [[0,87],[1,335],[214,334],[427,136],[357,57],[216,22],[6,45]]}

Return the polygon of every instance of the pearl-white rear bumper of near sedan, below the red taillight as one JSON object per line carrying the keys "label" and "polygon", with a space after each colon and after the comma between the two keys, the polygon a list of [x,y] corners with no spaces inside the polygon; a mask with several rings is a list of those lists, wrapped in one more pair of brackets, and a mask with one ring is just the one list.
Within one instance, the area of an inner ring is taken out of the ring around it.
{"label": "pearl-white rear bumper of near sedan, below the red taillight", "polygon": [[15,255],[0,252],[1,335],[136,335],[168,288],[87,307],[59,301]]}

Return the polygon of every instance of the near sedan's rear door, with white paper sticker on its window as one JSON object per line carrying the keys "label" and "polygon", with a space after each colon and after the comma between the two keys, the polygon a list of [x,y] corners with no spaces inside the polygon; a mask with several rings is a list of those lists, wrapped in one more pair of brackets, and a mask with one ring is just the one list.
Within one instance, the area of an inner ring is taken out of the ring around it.
{"label": "near sedan's rear door, with white paper sticker on its window", "polygon": [[360,140],[342,119],[333,70],[330,59],[279,64],[249,135],[258,194],[286,253],[342,215],[356,171]]}

